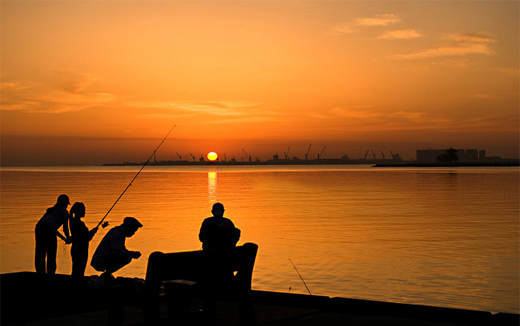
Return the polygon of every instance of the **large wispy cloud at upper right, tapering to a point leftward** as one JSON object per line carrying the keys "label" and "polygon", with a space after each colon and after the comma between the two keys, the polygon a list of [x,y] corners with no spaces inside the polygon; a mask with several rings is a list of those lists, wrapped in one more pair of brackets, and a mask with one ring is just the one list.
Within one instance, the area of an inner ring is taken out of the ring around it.
{"label": "large wispy cloud at upper right, tapering to a point leftward", "polygon": [[417,51],[415,53],[395,55],[395,58],[414,60],[433,57],[465,56],[471,54],[496,54],[491,46],[489,46],[489,44],[495,43],[496,41],[489,37],[487,33],[458,33],[448,35],[445,38],[454,41],[454,43],[438,46],[433,49]]}

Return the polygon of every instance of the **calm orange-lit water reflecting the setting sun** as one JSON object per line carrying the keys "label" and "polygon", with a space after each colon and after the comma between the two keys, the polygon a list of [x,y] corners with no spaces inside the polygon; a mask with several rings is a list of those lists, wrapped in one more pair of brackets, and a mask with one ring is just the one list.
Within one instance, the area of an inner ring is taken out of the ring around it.
{"label": "calm orange-lit water reflecting the setting sun", "polygon": [[[85,203],[93,228],[137,171],[3,168],[1,273],[34,271],[34,226],[59,194]],[[313,295],[519,313],[519,181],[518,168],[147,166],[107,216],[144,224],[127,240],[143,257],[115,276],[144,278],[156,250],[199,250],[218,201],[239,244],[259,245],[254,289],[308,293],[293,261]],[[69,250],[58,244],[58,273]]]}

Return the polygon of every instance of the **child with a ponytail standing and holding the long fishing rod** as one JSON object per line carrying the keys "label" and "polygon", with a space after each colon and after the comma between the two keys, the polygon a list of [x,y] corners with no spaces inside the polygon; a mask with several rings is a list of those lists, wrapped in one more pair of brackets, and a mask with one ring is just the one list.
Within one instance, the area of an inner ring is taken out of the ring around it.
{"label": "child with a ponytail standing and holding the long fishing rod", "polygon": [[89,231],[87,225],[81,221],[82,217],[85,217],[85,205],[76,202],[72,205],[69,216],[72,235],[72,276],[76,278],[85,276],[85,268],[87,268],[89,258],[89,242],[98,232],[98,228]]}

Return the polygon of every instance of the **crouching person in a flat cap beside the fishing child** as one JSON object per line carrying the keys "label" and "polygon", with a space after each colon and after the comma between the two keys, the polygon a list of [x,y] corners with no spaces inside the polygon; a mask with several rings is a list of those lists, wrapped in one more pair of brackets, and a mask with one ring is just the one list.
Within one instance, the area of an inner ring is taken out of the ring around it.
{"label": "crouching person in a flat cap beside the fishing child", "polygon": [[125,247],[125,239],[132,237],[143,225],[133,217],[125,217],[123,224],[112,228],[99,243],[90,265],[101,277],[110,278],[112,273],[130,264],[132,259],[141,257],[141,252],[130,251]]}

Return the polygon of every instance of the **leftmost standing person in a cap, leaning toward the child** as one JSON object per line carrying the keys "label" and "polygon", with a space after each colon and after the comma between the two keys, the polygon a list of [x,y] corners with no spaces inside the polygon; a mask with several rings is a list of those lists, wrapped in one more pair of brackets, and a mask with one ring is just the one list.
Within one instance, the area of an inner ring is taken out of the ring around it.
{"label": "leftmost standing person in a cap, leaning toward the child", "polygon": [[[60,237],[65,243],[71,243],[69,235],[69,212],[67,207],[71,205],[69,196],[60,195],[53,207],[49,207],[44,216],[35,227],[35,259],[36,273],[39,275],[55,275],[56,252],[58,251],[58,239]],[[58,231],[63,225],[64,236]],[[46,259],[46,261],[45,261]]]}

